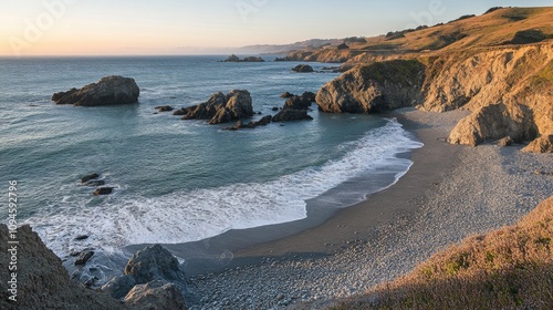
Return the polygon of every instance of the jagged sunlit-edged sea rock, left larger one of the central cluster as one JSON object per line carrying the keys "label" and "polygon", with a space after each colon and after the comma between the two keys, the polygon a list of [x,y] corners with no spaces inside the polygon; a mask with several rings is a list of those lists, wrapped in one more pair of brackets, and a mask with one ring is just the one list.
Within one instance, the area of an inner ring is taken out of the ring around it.
{"label": "jagged sunlit-edged sea rock, left larger one of the central cluster", "polygon": [[174,113],[182,120],[208,120],[211,125],[253,116],[251,95],[244,90],[233,90],[227,95],[217,92],[205,103],[185,107]]}

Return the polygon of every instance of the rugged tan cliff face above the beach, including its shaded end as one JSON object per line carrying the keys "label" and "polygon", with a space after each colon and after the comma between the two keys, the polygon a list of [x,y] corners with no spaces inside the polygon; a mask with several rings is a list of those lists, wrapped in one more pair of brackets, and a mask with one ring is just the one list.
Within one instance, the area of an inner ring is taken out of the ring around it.
{"label": "rugged tan cliff face above the beach, including its shaded end", "polygon": [[449,136],[478,145],[510,136],[533,141],[529,152],[552,152],[553,43],[415,56],[357,66],[324,85],[316,101],[333,113],[372,113],[404,106],[445,112],[467,108]]}

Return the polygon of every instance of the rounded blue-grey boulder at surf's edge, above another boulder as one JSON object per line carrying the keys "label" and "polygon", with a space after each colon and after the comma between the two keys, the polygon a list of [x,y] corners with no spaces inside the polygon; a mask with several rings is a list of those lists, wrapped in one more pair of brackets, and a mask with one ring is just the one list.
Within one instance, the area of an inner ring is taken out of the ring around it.
{"label": "rounded blue-grey boulder at surf's edge, above another boulder", "polygon": [[153,280],[185,282],[185,272],[178,260],[160,245],[137,251],[128,260],[124,273],[132,276],[138,285]]}

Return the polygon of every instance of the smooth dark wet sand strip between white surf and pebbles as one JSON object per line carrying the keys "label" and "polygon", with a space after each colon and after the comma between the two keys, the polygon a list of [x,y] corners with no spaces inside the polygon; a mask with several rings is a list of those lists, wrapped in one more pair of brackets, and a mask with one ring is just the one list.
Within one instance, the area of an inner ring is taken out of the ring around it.
{"label": "smooth dark wet sand strip between white surf and pebbles", "polygon": [[[326,257],[348,245],[374,238],[376,227],[416,211],[409,202],[432,183],[439,182],[442,170],[451,166],[459,148],[463,147],[441,141],[449,128],[425,128],[425,125],[409,120],[401,112],[382,116],[396,117],[405,131],[424,143],[421,148],[398,155],[409,158],[413,165],[395,184],[367,195],[364,202],[340,209],[320,208],[307,202],[307,217],[301,220],[233,229],[205,240],[164,247],[186,260],[184,268],[187,275],[199,276],[259,265],[271,258],[293,260]],[[447,155],[449,161],[442,161],[442,155]],[[145,246],[132,245],[126,249],[136,252]]]}

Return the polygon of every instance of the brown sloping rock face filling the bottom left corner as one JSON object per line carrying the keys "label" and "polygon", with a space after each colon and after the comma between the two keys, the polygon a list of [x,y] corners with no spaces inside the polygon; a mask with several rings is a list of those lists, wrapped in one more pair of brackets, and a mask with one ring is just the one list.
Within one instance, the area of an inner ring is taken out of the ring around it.
{"label": "brown sloping rock face filling the bottom left corner", "polygon": [[[11,261],[9,231],[0,225],[0,261]],[[62,261],[42,242],[31,227],[18,229],[18,297],[8,300],[8,272],[0,272],[0,309],[128,309],[109,296],[73,282]]]}

